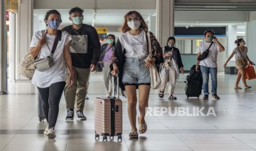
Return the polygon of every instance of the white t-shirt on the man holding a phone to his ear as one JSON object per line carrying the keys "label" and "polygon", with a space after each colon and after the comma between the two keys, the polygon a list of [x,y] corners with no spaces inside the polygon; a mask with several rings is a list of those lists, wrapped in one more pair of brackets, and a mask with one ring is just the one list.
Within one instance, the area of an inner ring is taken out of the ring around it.
{"label": "white t-shirt on the man holding a phone to his ear", "polygon": [[[205,50],[207,50],[209,48],[211,43],[206,43],[205,40],[203,42],[200,43],[197,52],[198,53],[203,53]],[[209,54],[208,57],[206,57],[206,59],[200,61],[200,66],[206,66],[206,67],[217,67],[217,55],[219,53],[219,46],[216,43],[213,43],[211,45],[211,48],[209,49]]]}

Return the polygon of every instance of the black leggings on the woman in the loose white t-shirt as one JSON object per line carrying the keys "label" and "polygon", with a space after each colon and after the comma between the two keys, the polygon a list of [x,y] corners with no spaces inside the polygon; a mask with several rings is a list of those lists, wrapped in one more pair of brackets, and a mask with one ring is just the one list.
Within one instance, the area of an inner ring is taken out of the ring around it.
{"label": "black leggings on the woman in the loose white t-shirt", "polygon": [[43,114],[45,114],[49,129],[56,125],[59,113],[59,102],[61,101],[65,85],[65,82],[57,82],[51,84],[48,88],[37,87],[42,100]]}

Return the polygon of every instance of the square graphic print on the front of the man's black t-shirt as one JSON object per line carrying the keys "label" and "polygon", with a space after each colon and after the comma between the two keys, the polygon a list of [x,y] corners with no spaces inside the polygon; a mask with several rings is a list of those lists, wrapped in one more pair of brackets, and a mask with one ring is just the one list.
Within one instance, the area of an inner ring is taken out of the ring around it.
{"label": "square graphic print on the front of the man's black t-shirt", "polygon": [[70,53],[87,54],[88,35],[72,35],[71,37]]}

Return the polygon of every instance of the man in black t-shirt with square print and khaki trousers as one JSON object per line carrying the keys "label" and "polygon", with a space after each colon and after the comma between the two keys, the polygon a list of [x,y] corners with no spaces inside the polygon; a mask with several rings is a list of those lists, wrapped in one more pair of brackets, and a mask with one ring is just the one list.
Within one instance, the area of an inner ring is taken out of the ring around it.
{"label": "man in black t-shirt with square print and khaki trousers", "polygon": [[100,40],[97,31],[90,25],[83,24],[83,9],[78,7],[69,11],[69,20],[72,25],[62,28],[68,32],[72,41],[70,43],[70,54],[74,68],[74,84],[66,85],[64,96],[67,106],[66,121],[74,120],[74,106],[76,103],[78,120],[86,120],[83,114],[85,96],[87,94],[90,72],[95,71],[96,63],[100,57]]}

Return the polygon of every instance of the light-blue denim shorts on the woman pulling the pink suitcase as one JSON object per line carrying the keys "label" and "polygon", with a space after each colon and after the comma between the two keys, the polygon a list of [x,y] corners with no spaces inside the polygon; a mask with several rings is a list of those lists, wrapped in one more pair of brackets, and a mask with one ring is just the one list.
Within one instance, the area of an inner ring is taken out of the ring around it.
{"label": "light-blue denim shorts on the woman pulling the pink suitcase", "polygon": [[124,85],[150,85],[150,71],[145,67],[144,59],[126,57],[122,82]]}

